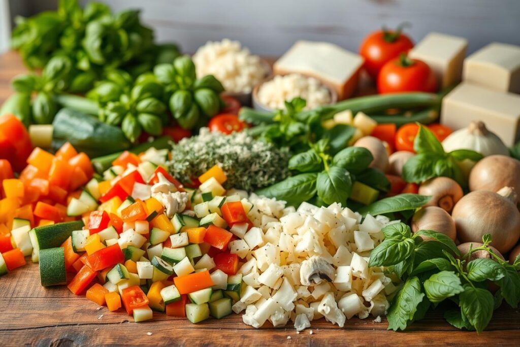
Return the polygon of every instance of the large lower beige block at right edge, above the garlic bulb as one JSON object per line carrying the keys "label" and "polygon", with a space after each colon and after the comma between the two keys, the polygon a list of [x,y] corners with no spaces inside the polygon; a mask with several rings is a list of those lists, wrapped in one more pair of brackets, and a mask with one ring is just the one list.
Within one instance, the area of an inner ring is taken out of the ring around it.
{"label": "large lower beige block at right edge, above the garlic bulb", "polygon": [[504,144],[520,139],[520,95],[493,91],[463,82],[443,99],[441,124],[453,130],[483,121]]}

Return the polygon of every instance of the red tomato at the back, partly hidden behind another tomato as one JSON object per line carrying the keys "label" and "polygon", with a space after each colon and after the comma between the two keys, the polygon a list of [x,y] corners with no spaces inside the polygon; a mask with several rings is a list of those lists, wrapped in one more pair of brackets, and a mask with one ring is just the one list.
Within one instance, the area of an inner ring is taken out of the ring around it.
{"label": "red tomato at the back, partly hidden behind another tomato", "polygon": [[379,30],[368,35],[361,43],[359,54],[365,58],[363,67],[373,79],[378,77],[385,63],[413,47],[413,42],[401,30],[402,26],[394,31]]}

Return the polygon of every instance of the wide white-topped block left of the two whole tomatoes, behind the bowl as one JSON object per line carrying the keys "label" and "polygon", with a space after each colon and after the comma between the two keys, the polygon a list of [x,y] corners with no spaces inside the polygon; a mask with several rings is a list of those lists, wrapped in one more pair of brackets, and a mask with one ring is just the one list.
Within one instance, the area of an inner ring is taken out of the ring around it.
{"label": "wide white-topped block left of the two whole tomatoes, behind the bowl", "polygon": [[340,99],[352,95],[363,58],[327,42],[297,41],[275,62],[275,74],[300,73],[332,87]]}

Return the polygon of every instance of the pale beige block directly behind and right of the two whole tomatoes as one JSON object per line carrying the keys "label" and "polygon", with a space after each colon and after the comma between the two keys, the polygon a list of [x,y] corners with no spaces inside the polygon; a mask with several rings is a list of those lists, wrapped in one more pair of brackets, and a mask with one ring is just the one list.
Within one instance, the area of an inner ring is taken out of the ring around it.
{"label": "pale beige block directly behind and right of the two whole tomatoes", "polygon": [[409,56],[419,59],[432,68],[441,89],[458,83],[462,78],[462,65],[467,40],[463,37],[429,33],[412,50]]}

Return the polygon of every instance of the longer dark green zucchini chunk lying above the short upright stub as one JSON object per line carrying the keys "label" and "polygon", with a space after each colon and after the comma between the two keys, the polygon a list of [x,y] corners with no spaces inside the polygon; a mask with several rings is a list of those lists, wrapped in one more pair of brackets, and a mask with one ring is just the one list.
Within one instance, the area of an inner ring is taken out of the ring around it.
{"label": "longer dark green zucchini chunk lying above the short upright stub", "polygon": [[38,261],[41,249],[60,247],[61,244],[72,235],[73,230],[83,227],[82,221],[59,223],[54,225],[40,226],[29,232],[33,245],[32,261]]}

